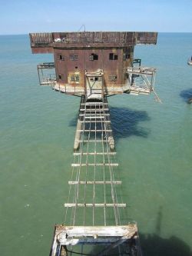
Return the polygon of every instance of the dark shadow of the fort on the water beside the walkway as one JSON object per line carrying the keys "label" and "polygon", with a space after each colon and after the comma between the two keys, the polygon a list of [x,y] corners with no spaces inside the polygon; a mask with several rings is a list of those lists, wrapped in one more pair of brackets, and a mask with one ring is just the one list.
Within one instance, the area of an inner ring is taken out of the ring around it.
{"label": "dark shadow of the fort on the water beside the walkway", "polygon": [[[147,138],[150,131],[147,128],[138,127],[140,121],[149,121],[147,111],[137,111],[130,108],[110,108],[111,127],[114,138],[127,138],[130,136],[139,136]],[[77,125],[78,114],[69,122],[69,126]]]}

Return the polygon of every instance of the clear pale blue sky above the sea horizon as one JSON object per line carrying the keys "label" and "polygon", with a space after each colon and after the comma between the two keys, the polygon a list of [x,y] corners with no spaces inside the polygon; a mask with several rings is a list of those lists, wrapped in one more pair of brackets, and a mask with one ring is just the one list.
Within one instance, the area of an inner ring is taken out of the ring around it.
{"label": "clear pale blue sky above the sea horizon", "polygon": [[[192,0],[0,0],[0,35],[192,32]],[[84,28],[82,29],[84,30]]]}

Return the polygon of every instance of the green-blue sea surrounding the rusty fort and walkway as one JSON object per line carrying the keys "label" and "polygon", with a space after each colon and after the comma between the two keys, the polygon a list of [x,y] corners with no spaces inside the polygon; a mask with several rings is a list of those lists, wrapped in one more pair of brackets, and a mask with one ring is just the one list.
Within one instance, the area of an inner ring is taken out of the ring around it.
{"label": "green-blue sea surrounding the rusty fort and walkway", "polygon": [[[144,255],[192,255],[192,33],[159,33],[134,58],[154,95],[108,98],[127,221]],[[38,85],[28,35],[0,36],[0,254],[47,256],[64,222],[79,98]]]}

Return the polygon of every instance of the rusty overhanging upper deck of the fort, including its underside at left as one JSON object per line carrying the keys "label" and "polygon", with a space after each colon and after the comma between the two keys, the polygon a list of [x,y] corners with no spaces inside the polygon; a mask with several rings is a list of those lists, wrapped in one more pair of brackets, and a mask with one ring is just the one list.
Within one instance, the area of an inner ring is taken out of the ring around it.
{"label": "rusty overhanging upper deck of the fort, including its underside at left", "polygon": [[29,35],[32,53],[52,53],[54,48],[124,48],[157,43],[157,32],[51,32]]}

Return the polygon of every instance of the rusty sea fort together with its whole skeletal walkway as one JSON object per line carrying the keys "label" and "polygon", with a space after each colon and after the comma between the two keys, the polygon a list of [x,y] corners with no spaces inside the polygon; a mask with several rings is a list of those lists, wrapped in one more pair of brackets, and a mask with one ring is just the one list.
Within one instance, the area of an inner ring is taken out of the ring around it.
{"label": "rusty sea fort together with its whole skeletal walkway", "polygon": [[157,33],[31,33],[30,39],[33,53],[52,53],[55,59],[38,65],[40,85],[81,97],[65,224],[55,225],[50,256],[141,255],[137,224],[122,224],[126,204],[108,96],[154,92],[156,70],[134,59],[134,45],[155,45]]}

